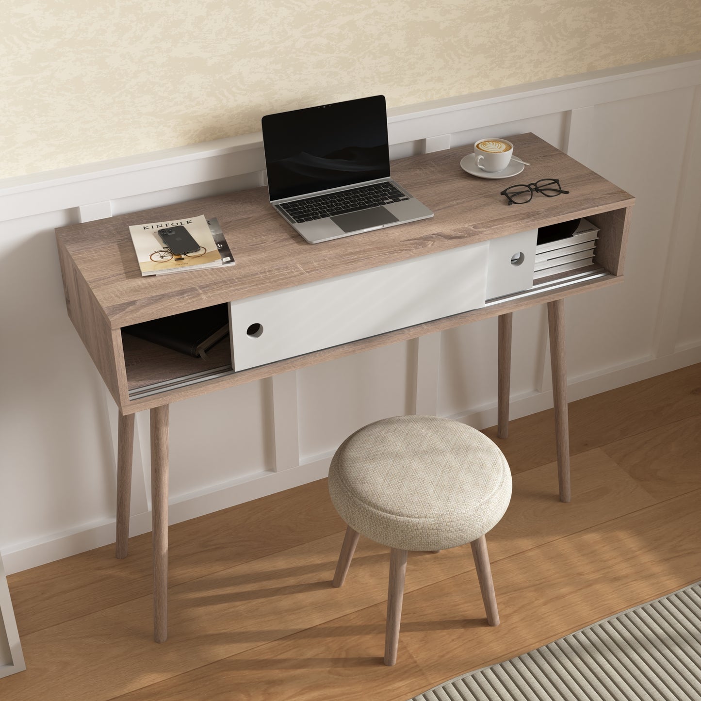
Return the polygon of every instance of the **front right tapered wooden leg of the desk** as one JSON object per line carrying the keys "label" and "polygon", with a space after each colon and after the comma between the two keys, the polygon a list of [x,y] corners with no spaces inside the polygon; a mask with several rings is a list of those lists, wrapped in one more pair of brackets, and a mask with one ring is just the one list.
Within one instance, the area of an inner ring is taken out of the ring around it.
{"label": "front right tapered wooden leg of the desk", "polygon": [[547,303],[547,325],[550,329],[550,369],[552,370],[552,398],[555,407],[557,478],[560,488],[560,501],[567,502],[570,501],[571,494],[564,299],[556,299],[555,301]]}

